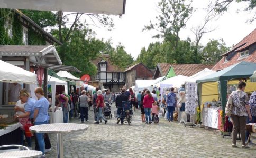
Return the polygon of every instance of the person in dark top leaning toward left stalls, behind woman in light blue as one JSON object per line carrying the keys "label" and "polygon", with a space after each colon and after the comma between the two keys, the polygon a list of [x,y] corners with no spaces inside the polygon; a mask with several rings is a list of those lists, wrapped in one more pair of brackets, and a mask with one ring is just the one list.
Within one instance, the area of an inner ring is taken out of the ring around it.
{"label": "person in dark top leaning toward left stalls, behind woman in light blue", "polygon": [[64,94],[55,95],[56,100],[58,100],[58,105],[55,107],[55,110],[61,106],[63,112],[63,122],[68,123],[68,97]]}

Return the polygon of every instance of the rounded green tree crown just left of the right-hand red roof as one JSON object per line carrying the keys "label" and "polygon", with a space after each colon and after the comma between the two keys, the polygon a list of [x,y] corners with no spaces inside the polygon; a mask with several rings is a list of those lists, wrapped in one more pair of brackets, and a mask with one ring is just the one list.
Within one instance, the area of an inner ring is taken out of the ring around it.
{"label": "rounded green tree crown just left of the right-hand red roof", "polygon": [[220,40],[210,40],[206,46],[200,49],[200,55],[203,64],[216,64],[221,60],[222,54],[230,50],[229,47],[226,47],[223,39]]}

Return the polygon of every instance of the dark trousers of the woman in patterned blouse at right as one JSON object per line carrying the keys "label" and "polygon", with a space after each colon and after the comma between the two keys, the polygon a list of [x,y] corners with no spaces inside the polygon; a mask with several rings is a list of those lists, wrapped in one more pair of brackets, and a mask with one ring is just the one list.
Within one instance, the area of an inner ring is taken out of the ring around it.
{"label": "dark trousers of the woman in patterned blouse at right", "polygon": [[232,131],[233,144],[236,144],[237,133],[238,133],[238,130],[240,130],[242,144],[245,145],[246,118],[247,117],[245,116],[237,116],[237,115],[231,114],[231,119],[233,122],[233,131]]}

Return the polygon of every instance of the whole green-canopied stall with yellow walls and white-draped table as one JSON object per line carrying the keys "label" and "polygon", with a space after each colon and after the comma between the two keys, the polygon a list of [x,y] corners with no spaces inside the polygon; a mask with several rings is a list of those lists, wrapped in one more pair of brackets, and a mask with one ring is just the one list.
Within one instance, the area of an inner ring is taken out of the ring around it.
{"label": "whole green-canopied stall with yellow walls and white-draped table", "polygon": [[[239,80],[246,82],[245,92],[253,92],[256,89],[256,84],[247,79],[253,74],[254,70],[256,70],[255,63],[240,62],[197,80],[199,104],[202,105],[200,108],[203,109],[203,118],[212,118],[212,120],[207,119],[208,122],[218,122],[218,116],[213,117],[212,114],[215,115],[218,109],[225,111],[228,95],[236,90]],[[211,112],[213,110],[215,110],[214,113]],[[220,115],[220,112],[218,112],[218,115]],[[224,117],[224,113],[222,116]],[[215,118],[216,120],[214,120]],[[204,119],[203,124],[216,128],[216,124],[208,124]]]}

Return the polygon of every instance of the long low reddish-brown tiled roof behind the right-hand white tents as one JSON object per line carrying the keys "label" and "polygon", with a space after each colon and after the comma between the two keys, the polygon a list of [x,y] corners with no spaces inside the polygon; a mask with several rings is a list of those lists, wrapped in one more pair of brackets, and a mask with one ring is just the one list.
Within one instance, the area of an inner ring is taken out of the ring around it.
{"label": "long low reddish-brown tiled roof behind the right-hand white tents", "polygon": [[162,71],[163,76],[166,76],[170,67],[173,67],[173,70],[176,75],[183,75],[183,76],[192,76],[205,68],[212,69],[214,65],[204,65],[204,64],[167,64],[167,63],[160,63],[158,64]]}

